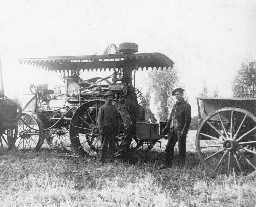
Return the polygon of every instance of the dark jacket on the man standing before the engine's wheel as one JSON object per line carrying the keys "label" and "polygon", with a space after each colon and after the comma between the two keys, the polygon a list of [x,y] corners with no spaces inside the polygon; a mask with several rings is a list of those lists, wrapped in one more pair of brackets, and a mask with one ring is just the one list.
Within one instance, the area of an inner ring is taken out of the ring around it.
{"label": "dark jacket on the man standing before the engine's wheel", "polygon": [[99,108],[97,121],[100,129],[109,129],[112,130],[113,133],[116,133],[116,130],[120,129],[118,111],[113,104],[105,103]]}

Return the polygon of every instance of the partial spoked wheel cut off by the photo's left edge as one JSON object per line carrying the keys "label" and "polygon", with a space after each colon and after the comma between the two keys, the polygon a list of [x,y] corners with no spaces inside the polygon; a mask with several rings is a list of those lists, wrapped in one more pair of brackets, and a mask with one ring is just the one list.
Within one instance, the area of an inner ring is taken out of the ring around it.
{"label": "partial spoked wheel cut off by the photo's left edge", "polygon": [[10,151],[15,145],[17,134],[17,124],[10,127],[9,129],[4,129],[0,134],[0,147],[7,148],[7,151]]}

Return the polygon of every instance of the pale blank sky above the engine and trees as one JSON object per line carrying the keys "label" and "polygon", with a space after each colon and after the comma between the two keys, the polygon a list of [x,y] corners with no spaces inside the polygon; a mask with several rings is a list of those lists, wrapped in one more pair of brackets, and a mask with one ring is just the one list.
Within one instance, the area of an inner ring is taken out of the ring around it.
{"label": "pale blank sky above the engine and trees", "polygon": [[[18,58],[102,54],[109,44],[134,42],[139,53],[160,52],[174,61],[196,115],[195,97],[204,82],[209,96],[215,87],[220,96],[232,96],[240,64],[256,60],[255,37],[255,1],[0,2],[0,58],[9,97],[28,93],[31,83],[61,82]],[[84,76],[96,75],[107,73]],[[145,90],[147,72],[136,77]]]}

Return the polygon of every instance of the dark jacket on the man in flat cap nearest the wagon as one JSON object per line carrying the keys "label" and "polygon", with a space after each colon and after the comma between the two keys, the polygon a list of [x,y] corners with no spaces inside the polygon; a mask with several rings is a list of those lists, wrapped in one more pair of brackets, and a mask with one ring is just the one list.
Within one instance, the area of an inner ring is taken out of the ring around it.
{"label": "dark jacket on the man in flat cap nearest the wagon", "polygon": [[[174,125],[171,126],[172,119],[175,120]],[[170,118],[167,121],[167,127],[174,127],[180,130],[183,134],[187,134],[189,125],[191,123],[191,106],[184,99],[181,102],[176,101],[173,106]]]}

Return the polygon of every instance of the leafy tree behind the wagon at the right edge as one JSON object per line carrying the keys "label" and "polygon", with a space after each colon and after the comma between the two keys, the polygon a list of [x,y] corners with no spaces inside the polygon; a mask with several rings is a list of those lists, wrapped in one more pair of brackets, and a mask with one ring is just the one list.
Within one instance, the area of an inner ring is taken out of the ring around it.
{"label": "leafy tree behind the wagon at the right edge", "polygon": [[242,62],[232,83],[234,97],[255,98],[256,61]]}

